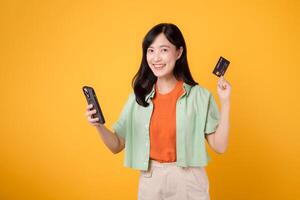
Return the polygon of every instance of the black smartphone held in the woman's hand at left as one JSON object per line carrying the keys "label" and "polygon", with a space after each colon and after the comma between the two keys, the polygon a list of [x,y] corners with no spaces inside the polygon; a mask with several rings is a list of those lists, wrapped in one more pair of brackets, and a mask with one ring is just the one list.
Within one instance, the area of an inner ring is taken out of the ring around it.
{"label": "black smartphone held in the woman's hand at left", "polygon": [[83,86],[82,87],[84,96],[86,98],[86,101],[88,104],[93,104],[93,108],[96,109],[96,113],[92,115],[92,118],[99,118],[100,124],[105,123],[105,119],[102,113],[102,110],[100,108],[96,93],[92,87],[89,86]]}

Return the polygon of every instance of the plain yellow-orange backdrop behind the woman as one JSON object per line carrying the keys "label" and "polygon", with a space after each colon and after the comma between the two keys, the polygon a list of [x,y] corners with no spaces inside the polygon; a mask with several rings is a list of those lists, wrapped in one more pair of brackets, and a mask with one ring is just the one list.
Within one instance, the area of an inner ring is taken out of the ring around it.
{"label": "plain yellow-orange backdrop behind the woman", "polygon": [[231,61],[212,199],[300,199],[299,11],[297,0],[1,1],[0,199],[136,199],[139,172],[88,124],[81,88],[96,89],[111,127],[160,22],[182,30],[193,77],[219,106],[211,72]]}

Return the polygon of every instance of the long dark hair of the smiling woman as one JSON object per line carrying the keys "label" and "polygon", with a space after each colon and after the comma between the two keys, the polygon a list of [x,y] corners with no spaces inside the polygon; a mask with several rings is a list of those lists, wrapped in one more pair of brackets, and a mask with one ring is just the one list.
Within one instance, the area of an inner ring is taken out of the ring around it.
{"label": "long dark hair of the smiling woman", "polygon": [[197,85],[194,81],[189,65],[187,62],[186,45],[183,35],[179,28],[175,24],[171,23],[160,23],[154,26],[146,34],[143,40],[143,57],[140,68],[136,75],[132,79],[132,87],[136,96],[136,102],[144,107],[147,107],[149,103],[145,101],[145,97],[149,94],[153,88],[157,77],[153,74],[147,62],[147,49],[152,44],[154,39],[160,34],[164,33],[166,38],[171,42],[176,49],[183,48],[181,57],[176,61],[173,74],[177,80],[183,80],[189,85]]}

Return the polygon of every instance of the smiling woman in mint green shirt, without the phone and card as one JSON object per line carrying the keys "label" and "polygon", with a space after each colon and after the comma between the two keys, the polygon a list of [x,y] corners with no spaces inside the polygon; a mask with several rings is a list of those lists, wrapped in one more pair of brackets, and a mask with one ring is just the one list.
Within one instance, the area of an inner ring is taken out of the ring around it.
{"label": "smiling woman in mint green shirt, without the phone and card", "polygon": [[190,73],[181,31],[154,26],[143,41],[143,57],[133,89],[114,132],[92,119],[106,146],[125,148],[125,166],[140,170],[138,199],[209,199],[205,139],[217,153],[227,148],[230,84],[221,77],[221,113],[211,93]]}

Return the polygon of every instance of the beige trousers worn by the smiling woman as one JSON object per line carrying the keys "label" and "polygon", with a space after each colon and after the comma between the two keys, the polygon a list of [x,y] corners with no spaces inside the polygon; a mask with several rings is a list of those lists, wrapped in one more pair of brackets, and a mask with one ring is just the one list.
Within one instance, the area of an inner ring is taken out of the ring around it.
{"label": "beige trousers worn by the smiling woman", "polygon": [[150,160],[140,171],[138,200],[209,200],[209,181],[203,167],[177,167],[176,162]]}

